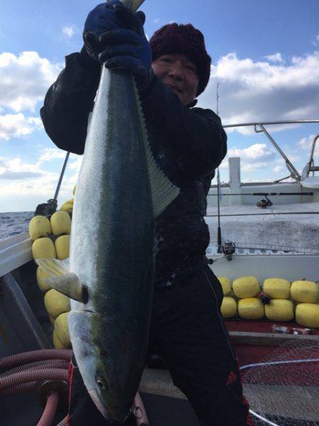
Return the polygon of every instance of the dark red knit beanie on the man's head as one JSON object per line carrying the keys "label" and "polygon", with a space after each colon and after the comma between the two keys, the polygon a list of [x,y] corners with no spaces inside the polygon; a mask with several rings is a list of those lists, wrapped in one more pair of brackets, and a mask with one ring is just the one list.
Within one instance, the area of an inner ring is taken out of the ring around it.
{"label": "dark red knit beanie on the man's head", "polygon": [[159,28],[150,39],[153,60],[165,53],[181,53],[196,65],[198,75],[198,94],[204,91],[211,74],[211,57],[206,52],[201,31],[191,23],[179,25],[169,23]]}

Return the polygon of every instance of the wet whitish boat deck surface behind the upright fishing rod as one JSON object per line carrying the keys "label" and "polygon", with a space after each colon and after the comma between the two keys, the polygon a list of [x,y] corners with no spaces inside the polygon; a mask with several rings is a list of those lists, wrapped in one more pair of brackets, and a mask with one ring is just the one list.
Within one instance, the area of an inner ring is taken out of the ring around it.
{"label": "wet whitish boat deck surface behind the upright fishing rod", "polygon": [[[208,207],[211,244],[217,241],[217,207]],[[319,202],[220,207],[223,240],[237,247],[319,253]]]}

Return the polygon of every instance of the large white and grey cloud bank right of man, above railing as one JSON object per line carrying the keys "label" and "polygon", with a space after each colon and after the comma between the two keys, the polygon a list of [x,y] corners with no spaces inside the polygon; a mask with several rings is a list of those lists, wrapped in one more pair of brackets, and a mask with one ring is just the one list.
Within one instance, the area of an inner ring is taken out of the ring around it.
{"label": "large white and grey cloud bank right of man, above railing", "polygon": [[289,65],[229,53],[212,65],[198,106],[216,110],[217,82],[223,124],[319,117],[319,52],[294,57]]}

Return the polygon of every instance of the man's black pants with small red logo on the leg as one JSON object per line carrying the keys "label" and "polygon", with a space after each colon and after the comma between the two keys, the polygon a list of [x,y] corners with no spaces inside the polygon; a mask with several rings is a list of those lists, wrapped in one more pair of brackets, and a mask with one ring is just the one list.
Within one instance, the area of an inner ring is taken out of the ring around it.
{"label": "man's black pants with small red logo on the leg", "polygon": [[[157,339],[174,385],[189,399],[201,426],[253,425],[220,315],[222,300],[221,285],[208,266],[183,282],[156,289],[150,344]],[[77,368],[72,376],[69,425],[107,426]]]}

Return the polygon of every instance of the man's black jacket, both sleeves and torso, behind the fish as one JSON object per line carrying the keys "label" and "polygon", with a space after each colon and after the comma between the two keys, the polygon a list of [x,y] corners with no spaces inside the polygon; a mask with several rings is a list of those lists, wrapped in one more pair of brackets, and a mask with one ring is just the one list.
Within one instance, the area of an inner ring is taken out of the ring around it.
{"label": "man's black jacket, both sleeves and torso, behind the fish", "polygon": [[[40,111],[45,131],[65,151],[84,152],[100,70],[99,65],[72,53],[45,96]],[[206,196],[214,170],[225,157],[227,136],[213,111],[185,107],[155,76],[140,90],[140,98],[155,160],[181,189],[156,221],[155,284],[162,286],[183,277],[205,259],[209,244],[203,219]]]}

